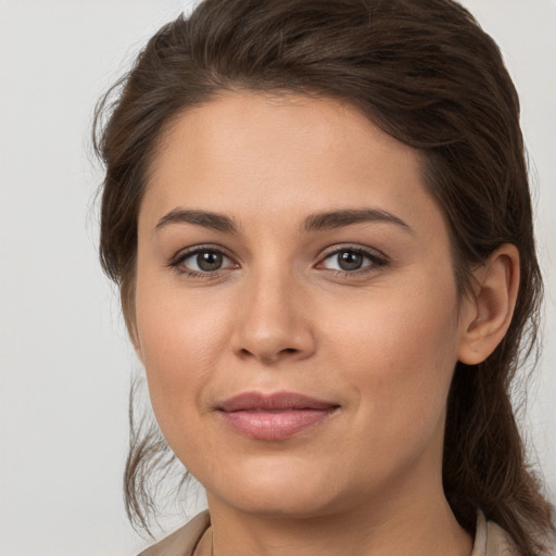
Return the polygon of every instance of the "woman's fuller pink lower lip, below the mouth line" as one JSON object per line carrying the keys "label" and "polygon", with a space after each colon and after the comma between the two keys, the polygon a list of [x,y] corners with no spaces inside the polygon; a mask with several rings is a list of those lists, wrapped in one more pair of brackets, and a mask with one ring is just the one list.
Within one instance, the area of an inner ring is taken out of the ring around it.
{"label": "woman's fuller pink lower lip, below the mouth line", "polygon": [[329,409],[222,412],[224,420],[237,432],[256,440],[282,440],[320,425]]}

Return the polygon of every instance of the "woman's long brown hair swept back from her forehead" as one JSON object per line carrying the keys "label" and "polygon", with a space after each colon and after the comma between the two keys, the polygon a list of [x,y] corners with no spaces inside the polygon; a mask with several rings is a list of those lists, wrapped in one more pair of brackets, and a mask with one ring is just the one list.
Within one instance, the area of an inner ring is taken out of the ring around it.
{"label": "woman's long brown hair swept back from her forehead", "polygon": [[[205,0],[165,25],[97,113],[106,167],[100,256],[130,330],[137,214],[157,139],[179,112],[230,89],[342,99],[419,149],[462,293],[472,265],[502,243],[518,248],[521,282],[506,337],[485,362],[455,369],[443,481],[463,527],[472,531],[481,508],[521,554],[541,554],[552,508],[528,467],[509,394],[534,353],[542,281],[519,101],[495,42],[451,0]],[[126,504],[147,527],[149,480],[173,456],[132,414],[131,428]]]}

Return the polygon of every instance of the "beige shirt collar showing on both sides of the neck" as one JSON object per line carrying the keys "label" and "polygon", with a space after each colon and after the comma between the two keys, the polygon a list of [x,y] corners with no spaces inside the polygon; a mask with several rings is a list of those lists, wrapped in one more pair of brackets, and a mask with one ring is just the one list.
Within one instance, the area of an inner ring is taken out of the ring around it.
{"label": "beige shirt collar showing on both sides of the neck", "polygon": [[[205,510],[139,556],[192,556],[210,525],[211,518]],[[479,513],[471,556],[519,556],[519,554],[513,546],[509,535],[496,523],[486,521],[484,515]]]}

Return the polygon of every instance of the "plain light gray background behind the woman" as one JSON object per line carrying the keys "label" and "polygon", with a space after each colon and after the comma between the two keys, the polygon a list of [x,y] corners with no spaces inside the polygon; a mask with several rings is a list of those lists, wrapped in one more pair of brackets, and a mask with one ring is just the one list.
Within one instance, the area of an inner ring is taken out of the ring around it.
{"label": "plain light gray background behind the woman", "polygon": [[[556,3],[466,0],[521,94],[545,350],[526,428],[556,493]],[[96,100],[178,0],[0,0],[0,555],[132,555],[121,475],[138,364],[101,275]],[[176,518],[170,521],[176,522]]]}

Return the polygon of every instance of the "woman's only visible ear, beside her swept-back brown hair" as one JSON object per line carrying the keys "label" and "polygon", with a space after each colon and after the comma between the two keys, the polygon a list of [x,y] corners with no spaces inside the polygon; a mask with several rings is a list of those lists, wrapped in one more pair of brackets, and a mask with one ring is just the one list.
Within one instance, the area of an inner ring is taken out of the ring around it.
{"label": "woman's only visible ear, beside her swept-back brown hair", "polygon": [[465,301],[458,359],[467,365],[483,362],[504,338],[519,289],[519,252],[504,243],[473,271],[472,294]]}

